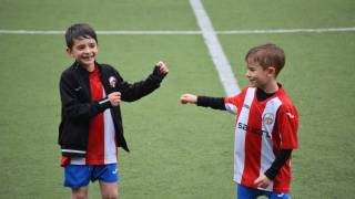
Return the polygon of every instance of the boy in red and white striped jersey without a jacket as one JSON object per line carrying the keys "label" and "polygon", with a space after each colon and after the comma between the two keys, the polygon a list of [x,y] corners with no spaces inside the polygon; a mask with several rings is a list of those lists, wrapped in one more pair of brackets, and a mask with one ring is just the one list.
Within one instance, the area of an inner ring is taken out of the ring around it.
{"label": "boy in red and white striped jersey without a jacket", "polygon": [[232,97],[183,94],[181,103],[236,115],[234,181],[237,198],[290,198],[291,153],[298,147],[298,114],[276,81],[285,64],[275,44],[252,48],[246,56],[250,85]]}

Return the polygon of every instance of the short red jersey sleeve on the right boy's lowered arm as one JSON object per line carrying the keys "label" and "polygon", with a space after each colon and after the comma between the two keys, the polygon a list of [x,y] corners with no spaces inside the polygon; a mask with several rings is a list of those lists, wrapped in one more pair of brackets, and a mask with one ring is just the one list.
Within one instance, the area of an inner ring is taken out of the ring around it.
{"label": "short red jersey sleeve on the right boy's lowered arm", "polygon": [[281,137],[281,148],[295,149],[298,147],[298,113],[294,106],[282,106],[278,112],[277,127]]}

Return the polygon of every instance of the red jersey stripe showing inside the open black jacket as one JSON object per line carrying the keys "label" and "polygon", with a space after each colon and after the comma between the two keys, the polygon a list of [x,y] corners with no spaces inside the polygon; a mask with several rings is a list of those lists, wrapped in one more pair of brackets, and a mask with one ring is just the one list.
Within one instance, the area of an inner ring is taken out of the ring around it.
{"label": "red jersey stripe showing inside the open black jacket", "polygon": [[[99,69],[89,73],[91,100],[100,101],[103,98],[103,87],[100,80]],[[87,165],[104,164],[104,123],[103,114],[100,113],[91,118],[89,126],[89,143],[87,151]]]}

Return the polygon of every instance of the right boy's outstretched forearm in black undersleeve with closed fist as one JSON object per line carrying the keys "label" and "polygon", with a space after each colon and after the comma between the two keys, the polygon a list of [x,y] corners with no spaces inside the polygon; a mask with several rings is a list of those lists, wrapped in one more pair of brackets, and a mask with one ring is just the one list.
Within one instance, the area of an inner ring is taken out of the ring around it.
{"label": "right boy's outstretched forearm in black undersleeve with closed fist", "polygon": [[180,97],[182,104],[196,104],[197,106],[211,107],[213,109],[225,111],[223,97],[197,96],[193,94],[183,94]]}

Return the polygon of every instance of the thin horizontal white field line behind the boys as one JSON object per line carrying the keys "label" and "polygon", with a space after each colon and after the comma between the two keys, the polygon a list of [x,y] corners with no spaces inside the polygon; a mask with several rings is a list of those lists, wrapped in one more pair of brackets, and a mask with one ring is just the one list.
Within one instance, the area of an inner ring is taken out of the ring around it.
{"label": "thin horizontal white field line behind the boys", "polygon": [[[277,33],[326,33],[326,32],[355,32],[355,27],[348,28],[320,28],[320,29],[265,29],[265,30],[225,30],[214,31],[215,34],[277,34]],[[105,35],[184,35],[184,34],[202,34],[202,31],[194,30],[112,30],[112,31],[97,31],[98,34]],[[60,30],[0,30],[0,34],[64,34],[64,31]]]}

